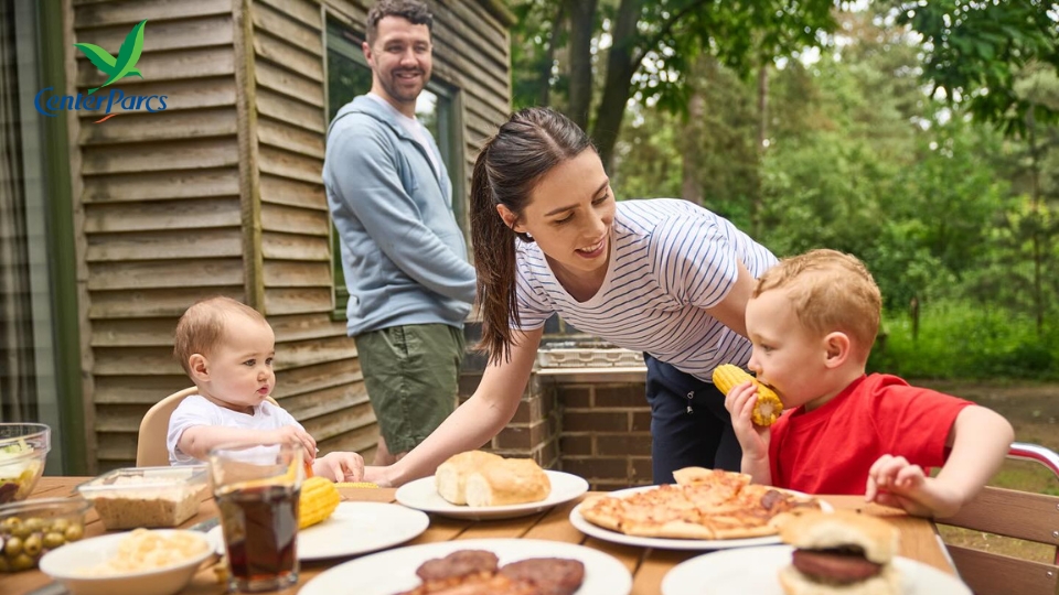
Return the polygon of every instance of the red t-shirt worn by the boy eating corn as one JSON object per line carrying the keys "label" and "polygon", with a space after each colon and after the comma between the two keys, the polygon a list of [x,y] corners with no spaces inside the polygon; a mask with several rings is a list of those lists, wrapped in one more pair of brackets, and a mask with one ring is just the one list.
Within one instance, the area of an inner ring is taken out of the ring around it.
{"label": "red t-shirt worn by the boy eating corn", "polygon": [[772,424],[772,485],[806,494],[863,495],[884,454],[927,470],[944,464],[956,415],[974,403],[908,386],[896,376],[854,380],[813,410],[798,407]]}

